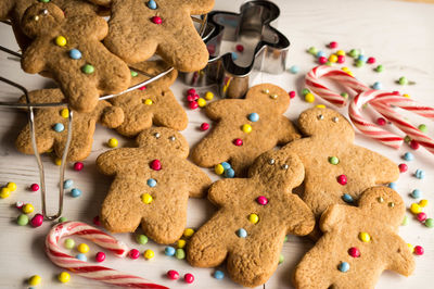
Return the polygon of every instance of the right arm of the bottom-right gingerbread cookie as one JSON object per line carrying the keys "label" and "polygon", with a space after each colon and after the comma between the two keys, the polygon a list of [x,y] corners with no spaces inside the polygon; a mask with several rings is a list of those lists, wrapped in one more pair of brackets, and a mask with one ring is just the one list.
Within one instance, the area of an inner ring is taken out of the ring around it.
{"label": "right arm of the bottom-right gingerbread cookie", "polygon": [[[387,269],[399,273],[404,276],[409,276],[414,271],[414,257],[410,250],[408,250],[407,243],[397,235],[392,236],[387,240]],[[392,252],[392,253],[388,253]]]}

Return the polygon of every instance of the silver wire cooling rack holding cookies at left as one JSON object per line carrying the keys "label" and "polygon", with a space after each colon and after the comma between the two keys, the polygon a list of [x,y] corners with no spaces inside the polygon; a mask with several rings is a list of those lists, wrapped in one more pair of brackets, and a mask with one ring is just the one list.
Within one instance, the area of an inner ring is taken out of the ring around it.
{"label": "silver wire cooling rack holding cookies at left", "polygon": [[[199,34],[201,35],[201,37],[204,38],[203,35],[206,33],[205,32],[205,27],[206,27],[207,15],[202,15],[201,17],[192,16],[191,18],[192,18],[193,22],[199,24],[196,26],[196,29],[197,29]],[[8,21],[1,21],[1,23],[7,24],[7,25],[11,25],[11,23],[8,22]],[[16,59],[21,59],[22,58],[21,53],[17,53],[17,52],[15,52],[13,50],[10,50],[10,49],[8,49],[8,48],[5,48],[3,46],[0,46],[0,51],[5,52],[8,54],[11,54],[12,56],[14,56],[14,59],[15,58]],[[130,67],[130,70],[133,70],[135,72],[137,72],[139,74],[148,76],[149,79],[146,79],[146,80],[144,80],[144,81],[142,81],[140,84],[137,84],[135,86],[131,86],[131,87],[127,88],[126,90],[124,90],[124,91],[122,91],[119,93],[102,96],[102,97],[99,98],[99,100],[106,100],[106,99],[115,98],[117,96],[120,96],[120,95],[130,92],[132,90],[136,90],[138,88],[141,88],[142,86],[146,86],[146,85],[149,85],[149,84],[162,78],[163,76],[167,75],[168,73],[170,73],[174,70],[174,67],[168,67],[167,70],[161,72],[157,75],[149,75],[145,72],[142,72],[142,71],[138,70],[138,68]],[[15,83],[15,81],[13,81],[11,79],[4,78],[2,76],[0,76],[0,81],[20,89],[23,92],[23,95],[25,96],[25,98],[26,98],[26,103],[0,101],[0,108],[27,109],[27,111],[28,111],[27,116],[28,116],[28,124],[29,124],[29,134],[30,134],[30,137],[31,137],[31,146],[33,146],[33,149],[34,149],[34,153],[35,153],[35,156],[36,156],[36,162],[37,162],[38,171],[39,171],[42,215],[43,215],[43,217],[46,219],[50,219],[50,221],[56,219],[62,215],[62,212],[63,212],[63,196],[64,196],[63,183],[64,183],[64,176],[65,176],[66,156],[67,156],[68,151],[69,151],[71,139],[72,139],[72,136],[73,136],[74,112],[69,109],[69,105],[66,102],[31,103],[30,99],[28,97],[28,90],[24,86]],[[35,109],[60,108],[60,106],[66,106],[68,109],[67,137],[66,137],[65,149],[64,149],[62,158],[61,158],[62,159],[62,163],[61,163],[61,166],[60,166],[60,177],[59,177],[59,205],[58,205],[58,212],[55,214],[53,214],[53,215],[49,215],[47,213],[46,174],[44,174],[43,163],[42,163],[42,160],[41,160],[41,156],[40,156],[40,153],[38,151],[37,143],[36,143]]]}

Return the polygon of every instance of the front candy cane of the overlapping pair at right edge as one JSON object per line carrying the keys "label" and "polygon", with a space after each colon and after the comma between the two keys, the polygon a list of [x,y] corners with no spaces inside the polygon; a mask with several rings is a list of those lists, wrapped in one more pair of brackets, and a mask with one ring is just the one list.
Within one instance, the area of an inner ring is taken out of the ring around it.
{"label": "front candy cane of the overlapping pair at right edge", "polygon": [[386,120],[392,122],[400,130],[406,133],[411,139],[418,141],[421,146],[426,148],[431,153],[434,153],[434,141],[420,131],[410,123],[404,121],[404,117],[393,110],[392,106],[397,106],[430,120],[434,120],[434,109],[421,105],[416,101],[405,98],[403,96],[384,92],[381,90],[368,90],[356,96],[354,101],[349,104],[349,118],[353,124],[363,134],[380,140],[381,142],[398,149],[403,143],[403,138],[384,130],[373,123],[365,121],[360,114],[360,109],[365,103],[372,105],[372,108],[382,114]]}

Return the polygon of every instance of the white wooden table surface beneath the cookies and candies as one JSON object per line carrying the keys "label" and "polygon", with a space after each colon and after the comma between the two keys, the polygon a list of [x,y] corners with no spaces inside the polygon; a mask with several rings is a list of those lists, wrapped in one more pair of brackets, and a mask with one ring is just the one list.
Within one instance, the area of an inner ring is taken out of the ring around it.
{"label": "white wooden table surface beneath the cookies and candies", "polygon": [[[241,0],[216,1],[216,9],[239,11]],[[381,81],[384,89],[400,90],[409,93],[412,98],[425,104],[434,105],[434,5],[422,3],[410,3],[392,0],[305,0],[305,1],[276,1],[281,9],[281,16],[277,27],[291,40],[291,52],[288,66],[298,65],[301,73],[293,75],[283,73],[281,75],[260,74],[254,79],[254,84],[270,81],[280,85],[286,90],[301,91],[303,88],[304,74],[315,63],[312,56],[305,52],[310,46],[316,46],[327,52],[326,43],[335,40],[342,49],[362,48],[367,55],[373,55],[378,62],[385,66],[385,72],[376,74],[372,65],[361,68],[354,67],[347,62],[356,76],[365,83],[372,85]],[[0,45],[16,49],[12,33],[7,25],[0,25]],[[0,75],[12,80],[20,81],[28,89],[43,88],[52,84],[39,76],[28,75],[21,71],[20,63],[8,60],[4,53],[0,54]],[[417,85],[401,87],[395,84],[400,76],[406,76]],[[178,80],[173,90],[179,100],[187,87]],[[201,90],[205,91],[205,90]],[[20,91],[0,84],[0,97],[2,100],[11,100],[20,97]],[[184,103],[184,102],[182,102]],[[321,103],[317,100],[317,103]],[[285,113],[291,120],[296,120],[299,112],[311,106],[299,97],[293,99],[289,111]],[[187,108],[186,108],[187,109]],[[193,146],[204,133],[197,127],[206,117],[199,111],[187,110],[189,114],[189,127],[182,134]],[[341,111],[345,113],[344,111]],[[414,124],[425,123],[429,134],[434,137],[434,123],[411,115]],[[18,211],[14,208],[16,201],[30,202],[36,211],[40,211],[40,194],[33,193],[26,189],[33,183],[39,183],[34,156],[23,155],[14,148],[14,140],[20,129],[25,125],[26,117],[22,112],[14,110],[0,110],[0,184],[15,181],[18,189],[8,199],[0,200],[0,287],[1,288],[25,288],[25,279],[38,274],[42,277],[43,288],[63,288],[56,280],[56,274],[61,272],[44,255],[43,240],[51,223],[46,222],[42,227],[34,229],[29,226],[20,227],[15,224]],[[118,136],[115,131],[97,127],[94,143],[91,155],[84,162],[85,169],[75,172],[69,166],[66,177],[75,181],[75,186],[82,190],[82,196],[73,199],[65,196],[64,216],[73,221],[84,221],[91,224],[98,214],[101,202],[108,189],[111,179],[95,171],[95,158],[107,149],[106,140],[111,137],[119,139],[120,146],[131,143]],[[397,163],[400,155],[409,151],[403,147],[395,151],[357,134],[356,142],[371,150],[383,153]],[[409,163],[409,172],[401,175],[398,180],[398,192],[410,205],[412,199],[409,192],[413,188],[422,190],[423,196],[434,202],[434,155],[424,149],[413,152],[416,160]],[[58,167],[46,158],[48,169],[47,178],[50,193],[49,208],[56,209],[58,193]],[[424,180],[418,180],[411,173],[416,168],[426,172]],[[207,171],[209,172],[209,171]],[[209,174],[214,179],[216,176]],[[197,227],[206,217],[210,216],[213,206],[206,200],[191,200],[189,202],[189,227]],[[434,216],[434,204],[430,204],[425,212]],[[434,284],[434,229],[427,229],[410,213],[410,224],[400,228],[401,237],[412,243],[421,244],[425,249],[423,256],[416,257],[417,268],[413,276],[405,278],[394,273],[385,272],[378,284],[378,288],[433,288]],[[144,251],[153,249],[156,256],[152,261],[143,257],[137,261],[116,260],[107,255],[106,266],[140,274],[156,282],[176,288],[239,288],[240,286],[225,277],[224,280],[215,279],[212,274],[214,269],[192,268],[186,261],[178,261],[164,255],[164,246],[154,244],[152,241],[145,246],[138,246],[133,241],[132,234],[118,235],[119,239],[130,246]],[[296,263],[312,243],[306,239],[290,237],[284,244],[283,254],[285,261],[279,266],[276,274],[265,285],[266,288],[291,288],[291,273]],[[95,253],[97,249],[91,248]],[[93,254],[88,254],[89,260]],[[91,261],[93,262],[93,261]],[[182,280],[170,281],[164,277],[168,269],[177,269],[182,276],[192,273],[195,276],[193,285],[187,285]],[[106,286],[88,281],[72,275],[72,281],[67,285],[73,288],[105,288]]]}

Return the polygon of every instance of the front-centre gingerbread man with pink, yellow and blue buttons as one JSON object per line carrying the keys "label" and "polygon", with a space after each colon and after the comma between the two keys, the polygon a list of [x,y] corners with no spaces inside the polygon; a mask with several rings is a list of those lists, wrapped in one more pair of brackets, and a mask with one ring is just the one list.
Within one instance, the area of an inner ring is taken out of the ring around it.
{"label": "front-centre gingerbread man with pink, yellow and blue buttons", "polygon": [[248,178],[214,183],[208,199],[220,209],[190,240],[189,263],[214,267],[227,259],[234,281],[248,287],[266,282],[278,266],[285,235],[304,236],[315,226],[310,209],[292,193],[303,178],[297,155],[270,151],[256,159]]}

